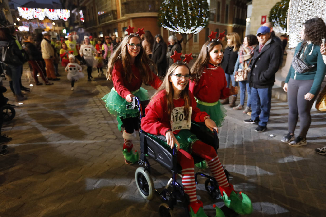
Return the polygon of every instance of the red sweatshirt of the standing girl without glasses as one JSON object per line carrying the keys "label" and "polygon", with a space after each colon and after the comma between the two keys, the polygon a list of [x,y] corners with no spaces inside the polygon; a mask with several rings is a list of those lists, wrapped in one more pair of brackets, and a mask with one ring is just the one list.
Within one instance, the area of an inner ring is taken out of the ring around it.
{"label": "red sweatshirt of the standing girl without glasses", "polygon": [[227,88],[223,69],[215,68],[211,64],[208,65],[208,69],[204,69],[198,83],[190,81],[189,90],[202,102],[217,102],[230,96],[230,88]]}

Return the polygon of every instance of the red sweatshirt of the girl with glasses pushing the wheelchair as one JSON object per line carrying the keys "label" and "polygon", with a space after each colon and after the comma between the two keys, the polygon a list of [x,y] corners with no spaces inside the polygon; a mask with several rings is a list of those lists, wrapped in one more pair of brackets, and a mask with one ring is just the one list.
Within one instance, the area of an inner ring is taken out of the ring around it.
{"label": "red sweatshirt of the girl with glasses pushing the wheelchair", "polygon": [[[114,89],[118,92],[118,94],[126,98],[126,96],[131,93],[131,91],[138,90],[141,88],[142,79],[139,73],[138,68],[135,65],[131,66],[132,74],[134,75],[131,82],[128,82],[126,76],[124,76],[124,70],[121,61],[116,61],[114,63],[114,68],[112,72],[112,81],[114,85]],[[148,68],[149,73],[152,71]],[[153,73],[152,73],[153,74]],[[153,88],[157,89],[161,86],[162,81],[153,74],[153,80],[149,83]]]}

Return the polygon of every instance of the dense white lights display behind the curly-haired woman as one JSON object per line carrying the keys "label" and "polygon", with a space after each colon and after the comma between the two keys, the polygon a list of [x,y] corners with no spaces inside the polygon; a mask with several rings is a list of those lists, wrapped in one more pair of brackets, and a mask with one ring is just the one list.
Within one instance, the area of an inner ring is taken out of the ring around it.
{"label": "dense white lights display behind the curly-haired woman", "polygon": [[300,31],[306,20],[320,17],[326,21],[325,0],[291,0],[288,11],[289,48],[296,47],[301,42]]}

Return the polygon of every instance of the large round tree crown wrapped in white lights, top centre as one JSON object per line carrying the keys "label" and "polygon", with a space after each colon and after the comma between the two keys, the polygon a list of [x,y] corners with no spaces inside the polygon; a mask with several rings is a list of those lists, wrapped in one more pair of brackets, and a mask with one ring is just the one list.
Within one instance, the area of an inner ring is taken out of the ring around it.
{"label": "large round tree crown wrapped in white lights, top centre", "polygon": [[163,28],[180,34],[197,34],[207,26],[208,19],[206,0],[164,0],[158,14]]}

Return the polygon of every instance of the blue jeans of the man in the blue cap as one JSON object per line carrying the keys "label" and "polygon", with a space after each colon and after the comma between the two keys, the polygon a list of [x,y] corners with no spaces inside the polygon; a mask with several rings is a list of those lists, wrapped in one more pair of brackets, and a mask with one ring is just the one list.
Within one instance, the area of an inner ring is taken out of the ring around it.
{"label": "blue jeans of the man in the blue cap", "polygon": [[265,127],[271,110],[272,87],[251,88],[251,120],[259,120],[259,125]]}

